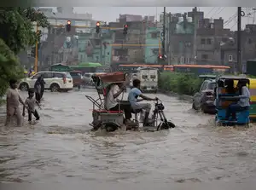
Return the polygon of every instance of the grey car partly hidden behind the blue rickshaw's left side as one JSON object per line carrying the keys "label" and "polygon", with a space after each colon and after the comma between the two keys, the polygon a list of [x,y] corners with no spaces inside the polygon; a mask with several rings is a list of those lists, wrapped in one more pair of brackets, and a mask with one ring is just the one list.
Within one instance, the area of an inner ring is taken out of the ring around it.
{"label": "grey car partly hidden behind the blue rickshaw's left side", "polygon": [[206,79],[201,84],[199,92],[195,93],[193,97],[192,107],[195,110],[201,110],[206,113],[215,113],[214,105],[214,89],[216,87],[215,79]]}

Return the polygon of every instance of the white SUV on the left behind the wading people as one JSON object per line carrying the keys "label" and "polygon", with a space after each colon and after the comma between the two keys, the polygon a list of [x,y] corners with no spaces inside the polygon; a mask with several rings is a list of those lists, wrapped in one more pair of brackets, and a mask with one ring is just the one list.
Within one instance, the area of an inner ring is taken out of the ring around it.
{"label": "white SUV on the left behind the wading people", "polygon": [[44,89],[50,89],[52,92],[69,91],[73,89],[73,78],[68,72],[38,72],[30,78],[21,80],[19,89],[33,89],[38,77],[44,78]]}

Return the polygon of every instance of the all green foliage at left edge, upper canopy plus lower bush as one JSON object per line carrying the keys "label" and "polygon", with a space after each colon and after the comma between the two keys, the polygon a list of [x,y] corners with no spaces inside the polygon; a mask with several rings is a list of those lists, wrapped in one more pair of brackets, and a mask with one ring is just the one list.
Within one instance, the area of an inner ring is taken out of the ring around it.
{"label": "all green foliage at left edge, upper canopy plus lower bush", "polygon": [[0,96],[4,95],[10,78],[24,76],[16,55],[40,39],[37,25],[48,27],[46,16],[33,8],[0,8]]}

